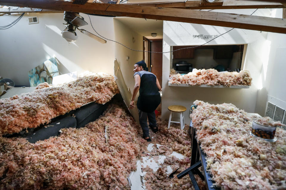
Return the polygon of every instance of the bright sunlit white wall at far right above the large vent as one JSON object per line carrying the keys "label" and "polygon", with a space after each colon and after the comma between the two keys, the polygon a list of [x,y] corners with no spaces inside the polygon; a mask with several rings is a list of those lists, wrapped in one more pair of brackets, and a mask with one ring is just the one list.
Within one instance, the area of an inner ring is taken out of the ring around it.
{"label": "bright sunlit white wall at far right above the large vent", "polygon": [[286,109],[286,34],[268,33],[268,56],[263,60],[261,70],[260,84],[261,88],[257,94],[257,112],[261,112],[264,116],[264,111],[267,105],[267,95],[273,96],[284,102],[277,102],[277,106]]}

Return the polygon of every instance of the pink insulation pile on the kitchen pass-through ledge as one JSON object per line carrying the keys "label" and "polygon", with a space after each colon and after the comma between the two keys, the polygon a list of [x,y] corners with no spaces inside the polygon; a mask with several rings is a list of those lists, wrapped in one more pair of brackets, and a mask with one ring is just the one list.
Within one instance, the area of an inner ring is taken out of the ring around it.
{"label": "pink insulation pile on the kitchen pass-through ledge", "polygon": [[251,85],[252,78],[249,71],[218,72],[215,69],[193,69],[186,75],[170,75],[171,84],[189,85]]}

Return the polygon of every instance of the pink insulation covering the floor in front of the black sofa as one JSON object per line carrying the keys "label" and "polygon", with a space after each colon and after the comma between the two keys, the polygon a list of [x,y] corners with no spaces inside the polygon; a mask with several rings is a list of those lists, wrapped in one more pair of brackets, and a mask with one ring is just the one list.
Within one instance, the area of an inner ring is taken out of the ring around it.
{"label": "pink insulation covering the floor in front of the black sofa", "polygon": [[[155,148],[148,151],[149,142],[141,137],[142,130],[133,118],[112,106],[86,127],[61,129],[58,137],[35,144],[23,138],[0,137],[0,189],[130,189],[127,177],[136,170],[137,159],[146,155],[152,155],[158,164],[159,155],[166,156],[156,172],[143,168],[146,190],[192,189],[188,176],[176,178],[189,167],[188,126],[181,130],[172,124],[167,129],[167,121],[161,122],[158,115],[159,132],[150,131]],[[173,151],[185,157],[178,159],[172,156]],[[168,167],[178,169],[174,178],[169,178]],[[197,175],[195,178],[204,190],[205,182]]]}

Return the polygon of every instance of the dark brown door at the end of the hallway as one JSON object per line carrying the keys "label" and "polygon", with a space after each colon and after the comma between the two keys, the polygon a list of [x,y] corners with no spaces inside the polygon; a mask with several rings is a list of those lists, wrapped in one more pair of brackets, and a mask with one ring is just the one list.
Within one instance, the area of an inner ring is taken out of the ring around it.
{"label": "dark brown door at the end of the hallway", "polygon": [[[150,51],[162,52],[163,50],[163,39],[151,39],[150,40]],[[156,75],[162,86],[162,53],[150,53],[150,72]]]}

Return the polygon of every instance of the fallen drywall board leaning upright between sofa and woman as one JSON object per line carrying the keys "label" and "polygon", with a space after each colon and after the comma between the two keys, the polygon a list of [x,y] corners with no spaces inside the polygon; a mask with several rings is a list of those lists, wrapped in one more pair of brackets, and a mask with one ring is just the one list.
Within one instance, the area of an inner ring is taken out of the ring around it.
{"label": "fallen drywall board leaning upright between sofa and woman", "polygon": [[[120,91],[120,94],[124,100],[125,105],[129,108],[129,104],[131,102],[132,93],[127,88],[127,85],[124,81],[120,66],[117,62],[117,60],[114,60],[114,75],[115,75],[115,82],[118,86],[118,89]],[[135,101],[134,101],[135,102]],[[134,120],[139,124],[139,114],[138,109],[135,107],[134,109],[129,110],[131,115],[133,116]]]}

